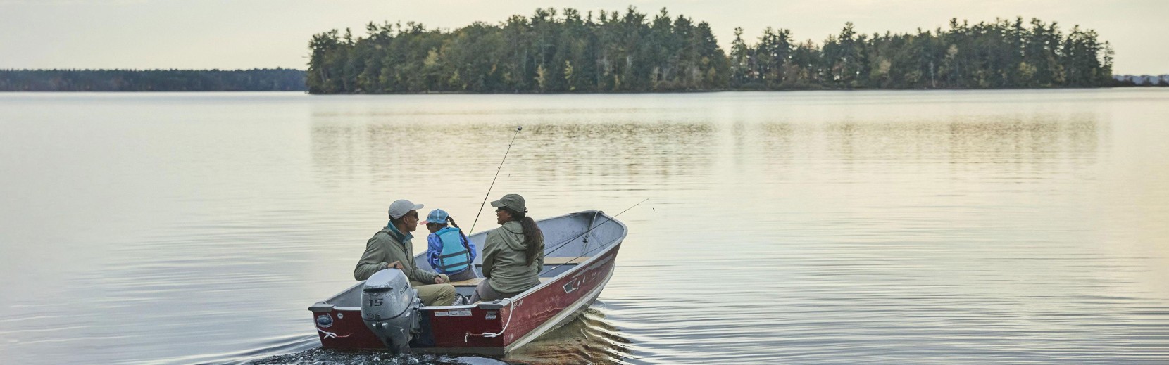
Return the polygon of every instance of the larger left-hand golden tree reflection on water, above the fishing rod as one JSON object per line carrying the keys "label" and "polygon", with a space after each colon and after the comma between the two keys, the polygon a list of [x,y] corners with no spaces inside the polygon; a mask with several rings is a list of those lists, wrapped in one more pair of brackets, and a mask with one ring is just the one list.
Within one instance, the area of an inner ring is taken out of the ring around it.
{"label": "larger left-hand golden tree reflection on water, above the fishing rod", "polygon": [[[524,126],[509,153],[511,174],[613,176],[636,180],[694,175],[711,162],[715,128],[708,124],[580,122]],[[318,176],[348,180],[441,163],[448,169],[490,173],[514,135],[499,125],[331,124],[312,127]],[[462,178],[465,174],[451,176]]]}

